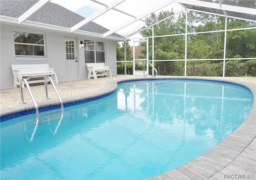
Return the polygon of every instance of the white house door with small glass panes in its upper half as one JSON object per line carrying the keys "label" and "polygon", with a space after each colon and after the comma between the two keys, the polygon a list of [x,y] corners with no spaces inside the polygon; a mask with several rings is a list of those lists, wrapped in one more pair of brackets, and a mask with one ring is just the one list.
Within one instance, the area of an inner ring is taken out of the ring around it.
{"label": "white house door with small glass panes in its upper half", "polygon": [[78,79],[76,59],[76,39],[65,39],[66,49],[66,78],[67,80]]}

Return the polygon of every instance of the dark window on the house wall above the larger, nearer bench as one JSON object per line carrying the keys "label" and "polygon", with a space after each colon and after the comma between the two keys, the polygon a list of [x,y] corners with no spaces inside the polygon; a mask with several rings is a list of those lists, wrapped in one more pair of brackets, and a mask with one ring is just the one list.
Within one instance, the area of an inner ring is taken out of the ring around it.
{"label": "dark window on the house wall above the larger, nearer bench", "polygon": [[44,57],[44,35],[27,32],[13,32],[16,56]]}

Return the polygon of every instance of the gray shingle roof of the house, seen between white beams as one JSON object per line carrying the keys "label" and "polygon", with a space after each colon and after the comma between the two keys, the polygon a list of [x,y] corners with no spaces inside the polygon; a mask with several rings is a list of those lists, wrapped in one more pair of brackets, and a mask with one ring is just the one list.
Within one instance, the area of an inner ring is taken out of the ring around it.
{"label": "gray shingle roof of the house, seen between white beams", "polygon": [[[0,0],[0,15],[12,18],[20,17],[30,7],[36,4],[38,0]],[[46,3],[42,8],[37,10],[27,20],[33,22],[40,22],[44,24],[51,24],[54,26],[61,26],[71,28],[85,18],[52,2]],[[109,30],[94,22],[88,22],[79,30],[104,34]],[[111,36],[124,38],[123,36],[113,33]]]}

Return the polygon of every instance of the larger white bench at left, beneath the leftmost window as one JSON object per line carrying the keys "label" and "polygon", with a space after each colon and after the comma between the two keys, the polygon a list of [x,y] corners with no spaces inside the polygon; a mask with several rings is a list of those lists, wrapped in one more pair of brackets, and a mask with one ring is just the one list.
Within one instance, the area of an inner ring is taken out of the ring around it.
{"label": "larger white bench at left, beneath the leftmost window", "polygon": [[14,76],[13,87],[18,87],[22,78],[26,78],[29,84],[44,83],[48,76],[58,84],[57,74],[54,73],[54,68],[49,68],[48,64],[12,64],[11,66]]}

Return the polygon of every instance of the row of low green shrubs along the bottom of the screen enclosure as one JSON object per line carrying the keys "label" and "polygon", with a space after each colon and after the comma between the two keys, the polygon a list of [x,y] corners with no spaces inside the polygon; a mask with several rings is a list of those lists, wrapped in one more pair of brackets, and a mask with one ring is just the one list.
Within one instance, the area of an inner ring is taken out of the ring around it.
{"label": "row of low green shrubs along the bottom of the screen enclosure", "polygon": [[[132,62],[127,63],[130,74],[132,74]],[[155,68],[160,70],[160,75],[184,75],[184,62],[183,61],[158,61],[155,62]],[[149,69],[152,73],[152,68]],[[223,61],[219,63],[209,64],[188,64],[186,69],[188,76],[212,76],[221,77],[223,75]],[[249,60],[241,62],[239,60],[230,60],[225,63],[225,76],[226,77],[240,77],[247,73],[256,77],[256,60]],[[117,63],[117,74],[124,74],[124,62]]]}

